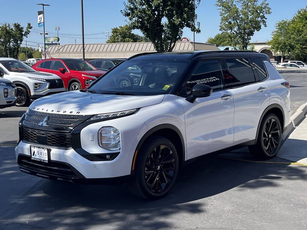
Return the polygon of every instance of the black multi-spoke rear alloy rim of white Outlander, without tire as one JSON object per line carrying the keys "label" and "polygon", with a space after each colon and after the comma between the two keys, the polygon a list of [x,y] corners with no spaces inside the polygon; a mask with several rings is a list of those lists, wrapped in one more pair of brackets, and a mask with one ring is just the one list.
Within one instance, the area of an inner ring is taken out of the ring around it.
{"label": "black multi-spoke rear alloy rim of white Outlander, without tire", "polygon": [[268,155],[272,155],[278,147],[280,139],[280,129],[274,118],[269,119],[264,125],[262,132],[262,144]]}

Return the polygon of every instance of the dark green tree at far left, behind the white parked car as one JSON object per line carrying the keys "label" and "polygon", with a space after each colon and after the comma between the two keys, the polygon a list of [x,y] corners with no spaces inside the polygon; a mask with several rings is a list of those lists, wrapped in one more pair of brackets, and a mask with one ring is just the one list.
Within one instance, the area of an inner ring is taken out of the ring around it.
{"label": "dark green tree at far left, behind the white parked car", "polygon": [[28,23],[25,29],[19,23],[14,23],[10,28],[8,24],[0,27],[0,45],[6,57],[18,57],[23,38],[28,37],[30,29],[32,29],[30,23]]}

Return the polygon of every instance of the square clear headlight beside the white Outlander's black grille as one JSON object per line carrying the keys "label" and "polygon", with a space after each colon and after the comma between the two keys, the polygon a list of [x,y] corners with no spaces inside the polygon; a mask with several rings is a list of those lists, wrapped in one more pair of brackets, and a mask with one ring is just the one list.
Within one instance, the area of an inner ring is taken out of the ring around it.
{"label": "square clear headlight beside the white Outlander's black grille", "polygon": [[120,150],[120,133],[117,128],[103,127],[99,130],[100,147],[115,151]]}

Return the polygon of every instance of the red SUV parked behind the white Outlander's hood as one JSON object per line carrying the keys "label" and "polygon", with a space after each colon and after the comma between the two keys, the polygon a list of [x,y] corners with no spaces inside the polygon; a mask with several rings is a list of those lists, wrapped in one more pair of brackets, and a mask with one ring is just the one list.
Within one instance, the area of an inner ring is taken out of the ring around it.
{"label": "red SUV parked behind the white Outlander's hood", "polygon": [[53,73],[64,82],[69,91],[82,90],[106,71],[97,70],[91,64],[75,58],[52,58],[38,61],[32,68],[36,71]]}

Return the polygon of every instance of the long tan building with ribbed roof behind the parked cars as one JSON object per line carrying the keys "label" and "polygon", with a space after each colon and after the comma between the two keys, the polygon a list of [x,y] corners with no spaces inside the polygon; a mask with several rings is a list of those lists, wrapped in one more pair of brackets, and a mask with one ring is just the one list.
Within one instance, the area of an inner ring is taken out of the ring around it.
{"label": "long tan building with ribbed roof behind the parked cars", "polygon": [[[193,42],[176,42],[173,51],[192,51]],[[195,50],[219,50],[216,45],[195,42]],[[128,58],[143,52],[155,52],[151,42],[84,44],[85,59]],[[42,55],[44,57],[44,55]],[[52,45],[46,49],[46,58],[82,58],[82,44]]]}

